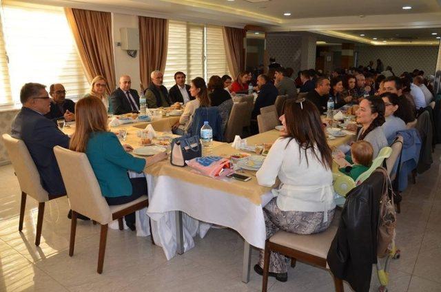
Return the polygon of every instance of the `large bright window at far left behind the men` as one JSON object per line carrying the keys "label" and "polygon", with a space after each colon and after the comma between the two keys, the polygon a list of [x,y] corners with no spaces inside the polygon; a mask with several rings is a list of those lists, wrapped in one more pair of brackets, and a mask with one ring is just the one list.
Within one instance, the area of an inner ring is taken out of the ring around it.
{"label": "large bright window at far left behind the men", "polygon": [[3,1],[3,15],[14,102],[28,82],[61,83],[68,98],[85,94],[89,83],[63,8]]}

